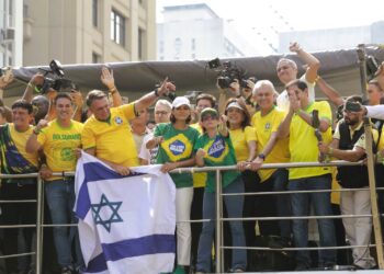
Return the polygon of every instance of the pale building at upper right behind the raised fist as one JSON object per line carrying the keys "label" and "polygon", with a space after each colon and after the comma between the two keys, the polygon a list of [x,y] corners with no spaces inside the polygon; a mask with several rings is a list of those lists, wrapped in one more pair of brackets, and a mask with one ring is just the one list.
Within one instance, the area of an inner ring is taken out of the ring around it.
{"label": "pale building at upper right behind the raised fist", "polygon": [[297,41],[307,52],[353,48],[359,44],[383,44],[384,21],[364,26],[280,33],[279,53],[287,53],[292,41]]}

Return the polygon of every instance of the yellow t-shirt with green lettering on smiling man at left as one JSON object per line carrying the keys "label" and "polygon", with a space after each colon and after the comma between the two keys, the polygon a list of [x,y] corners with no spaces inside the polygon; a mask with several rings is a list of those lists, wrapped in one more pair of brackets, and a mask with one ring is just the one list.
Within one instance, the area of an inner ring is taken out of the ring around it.
{"label": "yellow t-shirt with green lettering on smiling man at left", "polygon": [[[81,147],[82,127],[83,125],[76,121],[71,121],[69,127],[61,127],[57,119],[54,119],[37,136],[47,165],[53,172],[76,170],[77,159],[74,149]],[[55,179],[57,178],[50,180]]]}

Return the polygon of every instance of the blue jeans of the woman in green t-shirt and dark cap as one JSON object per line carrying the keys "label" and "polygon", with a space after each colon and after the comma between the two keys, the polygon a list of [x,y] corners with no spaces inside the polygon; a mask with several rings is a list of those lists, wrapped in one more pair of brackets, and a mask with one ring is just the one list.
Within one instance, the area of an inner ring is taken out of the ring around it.
{"label": "blue jeans of the woman in green t-shirt and dark cap", "polygon": [[[223,189],[223,193],[244,193],[244,182],[241,176],[235,179],[227,187]],[[203,230],[200,235],[197,249],[196,270],[201,272],[211,272],[211,258],[213,236],[215,232],[216,203],[215,193],[204,193],[203,199],[203,219],[211,219],[203,222]],[[224,203],[229,218],[240,218],[242,216],[244,196],[224,196]],[[235,247],[246,247],[244,229],[241,221],[229,221],[231,241]],[[217,251],[216,251],[217,252]],[[247,251],[234,249],[231,258],[231,269],[246,270]]]}

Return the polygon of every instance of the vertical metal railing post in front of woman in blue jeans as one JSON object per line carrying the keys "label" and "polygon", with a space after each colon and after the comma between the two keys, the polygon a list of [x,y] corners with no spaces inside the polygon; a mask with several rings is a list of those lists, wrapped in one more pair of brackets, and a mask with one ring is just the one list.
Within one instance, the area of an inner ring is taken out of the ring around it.
{"label": "vertical metal railing post in front of woman in blue jeans", "polygon": [[222,273],[223,271],[223,253],[222,253],[222,173],[216,170],[216,273]]}

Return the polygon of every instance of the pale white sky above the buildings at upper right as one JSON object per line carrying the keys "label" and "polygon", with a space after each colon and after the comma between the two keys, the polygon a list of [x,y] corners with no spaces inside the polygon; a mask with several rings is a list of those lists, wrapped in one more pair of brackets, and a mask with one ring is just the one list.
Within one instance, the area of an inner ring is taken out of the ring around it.
{"label": "pale white sky above the buildings at upper right", "polygon": [[258,45],[260,55],[273,53],[268,44],[278,47],[279,32],[361,26],[384,20],[384,0],[156,0],[156,3],[158,23],[162,22],[163,7],[206,3],[249,43]]}

